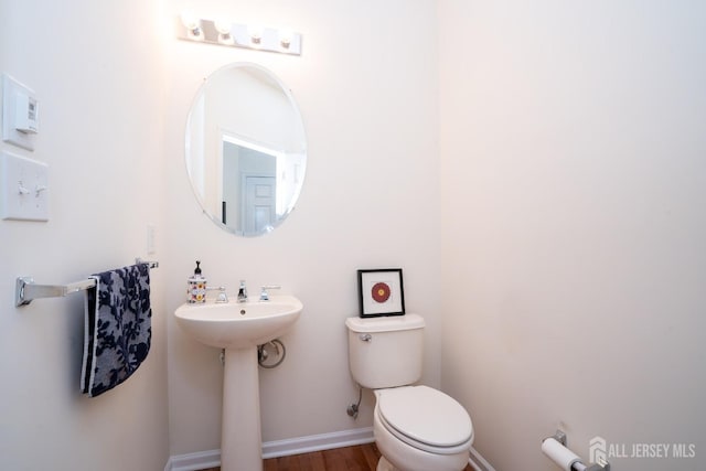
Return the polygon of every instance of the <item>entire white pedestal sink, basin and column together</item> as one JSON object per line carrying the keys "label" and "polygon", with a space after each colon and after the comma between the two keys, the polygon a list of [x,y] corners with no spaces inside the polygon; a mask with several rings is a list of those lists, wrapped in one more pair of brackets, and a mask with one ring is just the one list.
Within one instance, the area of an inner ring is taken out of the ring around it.
{"label": "entire white pedestal sink, basin and column together", "polygon": [[225,349],[222,471],[263,470],[257,345],[287,332],[302,309],[293,296],[270,296],[261,302],[182,304],[174,312],[192,339]]}

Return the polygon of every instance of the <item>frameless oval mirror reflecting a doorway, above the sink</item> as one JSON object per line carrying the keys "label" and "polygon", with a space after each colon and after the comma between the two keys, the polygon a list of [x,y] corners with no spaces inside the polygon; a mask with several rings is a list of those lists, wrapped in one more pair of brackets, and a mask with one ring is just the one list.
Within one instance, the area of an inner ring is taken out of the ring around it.
{"label": "frameless oval mirror reflecting a doorway, above the sink", "polygon": [[295,207],[307,168],[291,92],[256,64],[208,76],[189,111],[186,170],[204,213],[242,236],[271,232]]}

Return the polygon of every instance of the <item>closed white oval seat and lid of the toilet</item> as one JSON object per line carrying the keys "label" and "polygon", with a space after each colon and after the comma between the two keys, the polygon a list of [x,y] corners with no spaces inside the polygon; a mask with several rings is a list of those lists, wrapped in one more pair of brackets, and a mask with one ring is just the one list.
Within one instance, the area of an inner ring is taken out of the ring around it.
{"label": "closed white oval seat and lid of the toilet", "polygon": [[428,386],[378,389],[376,414],[396,438],[437,454],[468,450],[473,425],[456,399]]}

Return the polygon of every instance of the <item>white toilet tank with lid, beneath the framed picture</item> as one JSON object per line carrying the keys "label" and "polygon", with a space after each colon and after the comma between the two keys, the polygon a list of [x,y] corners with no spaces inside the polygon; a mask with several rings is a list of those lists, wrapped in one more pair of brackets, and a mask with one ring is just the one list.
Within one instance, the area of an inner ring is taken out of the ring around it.
{"label": "white toilet tank with lid, beneath the framed picture", "polygon": [[421,377],[424,318],[418,314],[347,318],[349,366],[370,389],[413,384]]}

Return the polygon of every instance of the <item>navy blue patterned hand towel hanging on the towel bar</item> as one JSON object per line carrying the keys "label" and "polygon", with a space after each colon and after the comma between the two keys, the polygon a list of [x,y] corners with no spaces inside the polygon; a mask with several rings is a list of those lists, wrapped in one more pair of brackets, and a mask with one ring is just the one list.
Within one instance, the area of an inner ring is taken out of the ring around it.
{"label": "navy blue patterned hand towel hanging on the towel bar", "polygon": [[92,397],[126,381],[150,351],[150,269],[132,265],[92,276],[86,291],[82,392]]}

